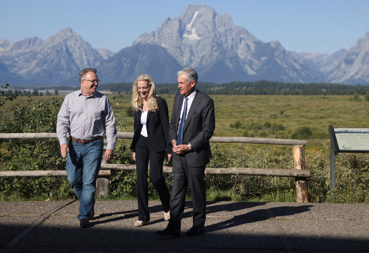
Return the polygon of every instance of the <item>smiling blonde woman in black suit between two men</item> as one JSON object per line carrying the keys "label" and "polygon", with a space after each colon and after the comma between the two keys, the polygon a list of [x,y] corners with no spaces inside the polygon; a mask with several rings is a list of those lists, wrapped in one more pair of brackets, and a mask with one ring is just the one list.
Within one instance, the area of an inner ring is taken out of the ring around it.
{"label": "smiling blonde woman in black suit between two men", "polygon": [[134,226],[149,224],[148,163],[150,180],[158,192],[164,209],[164,219],[169,220],[170,193],[163,177],[165,150],[170,161],[168,105],[155,93],[155,85],[149,75],[139,75],[133,84],[132,105],[135,108],[132,157],[136,161],[138,220]]}

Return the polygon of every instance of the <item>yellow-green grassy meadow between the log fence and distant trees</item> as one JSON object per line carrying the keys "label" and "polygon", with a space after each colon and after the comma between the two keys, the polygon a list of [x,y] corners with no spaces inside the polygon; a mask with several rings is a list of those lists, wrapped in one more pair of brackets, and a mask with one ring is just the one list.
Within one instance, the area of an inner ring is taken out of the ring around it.
{"label": "yellow-green grassy meadow between the log fence and distant trees", "polygon": [[[55,98],[63,98],[60,94]],[[128,117],[130,95],[108,94],[116,118],[125,125],[120,131],[133,132],[133,117]],[[114,99],[115,97],[115,99]],[[174,95],[162,94],[172,112]],[[323,149],[322,142],[329,140],[328,125],[333,127],[368,127],[368,107],[361,101],[350,101],[346,95],[212,95],[215,105],[214,136],[245,136],[260,138],[290,139],[301,128],[311,129],[307,139],[306,154],[317,154]],[[51,98],[32,97],[30,107]],[[5,112],[13,104],[25,105],[28,97],[7,101],[1,107]],[[230,146],[237,146],[231,144]],[[292,146],[248,144],[252,150],[274,148],[276,154],[285,154]]]}

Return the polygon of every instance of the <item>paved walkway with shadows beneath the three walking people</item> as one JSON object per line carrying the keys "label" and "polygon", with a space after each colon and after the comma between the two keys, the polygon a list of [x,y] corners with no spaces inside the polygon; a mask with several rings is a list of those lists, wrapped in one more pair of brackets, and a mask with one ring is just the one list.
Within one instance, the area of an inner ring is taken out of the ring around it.
{"label": "paved walkway with shadows beneath the three walking people", "polygon": [[369,252],[369,205],[207,202],[205,232],[158,237],[168,222],[158,201],[151,221],[134,227],[136,201],[97,201],[88,229],[79,228],[79,202],[0,202],[0,252]]}

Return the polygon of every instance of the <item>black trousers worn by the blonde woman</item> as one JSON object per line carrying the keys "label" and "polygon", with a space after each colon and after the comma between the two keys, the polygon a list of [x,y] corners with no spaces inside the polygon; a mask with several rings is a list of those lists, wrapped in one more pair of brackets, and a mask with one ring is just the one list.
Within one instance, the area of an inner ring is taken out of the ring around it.
{"label": "black trousers worn by the blonde woman", "polygon": [[148,144],[147,137],[141,135],[136,144],[136,172],[137,172],[137,198],[138,220],[149,221],[149,189],[148,164],[150,160],[150,180],[162,202],[165,212],[169,211],[170,193],[163,177],[163,161],[165,150],[155,152]]}

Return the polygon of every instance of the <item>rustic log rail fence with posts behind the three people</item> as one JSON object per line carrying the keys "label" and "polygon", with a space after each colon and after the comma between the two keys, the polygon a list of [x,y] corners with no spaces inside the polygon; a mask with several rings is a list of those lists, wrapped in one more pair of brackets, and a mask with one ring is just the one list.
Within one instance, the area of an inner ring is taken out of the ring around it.
{"label": "rustic log rail fence with posts behind the three people", "polygon": [[[68,136],[69,137],[69,136]],[[57,138],[56,133],[0,133],[0,139],[13,138]],[[132,132],[118,132],[117,138],[132,139]],[[249,143],[249,144],[275,144],[275,145],[293,145],[294,169],[267,169],[267,168],[206,168],[206,174],[224,174],[224,175],[254,175],[254,176],[286,176],[294,177],[296,185],[296,200],[298,203],[308,202],[307,182],[310,177],[310,171],[305,165],[306,140],[296,139],[272,139],[272,138],[251,138],[251,137],[218,137],[213,136],[210,142],[218,143]],[[101,162],[99,178],[96,183],[96,194],[100,198],[108,198],[110,194],[110,169],[135,170],[136,165],[127,164],[107,164]],[[163,167],[163,172],[172,172],[172,168]],[[0,176],[66,176],[66,171],[1,171]]]}

